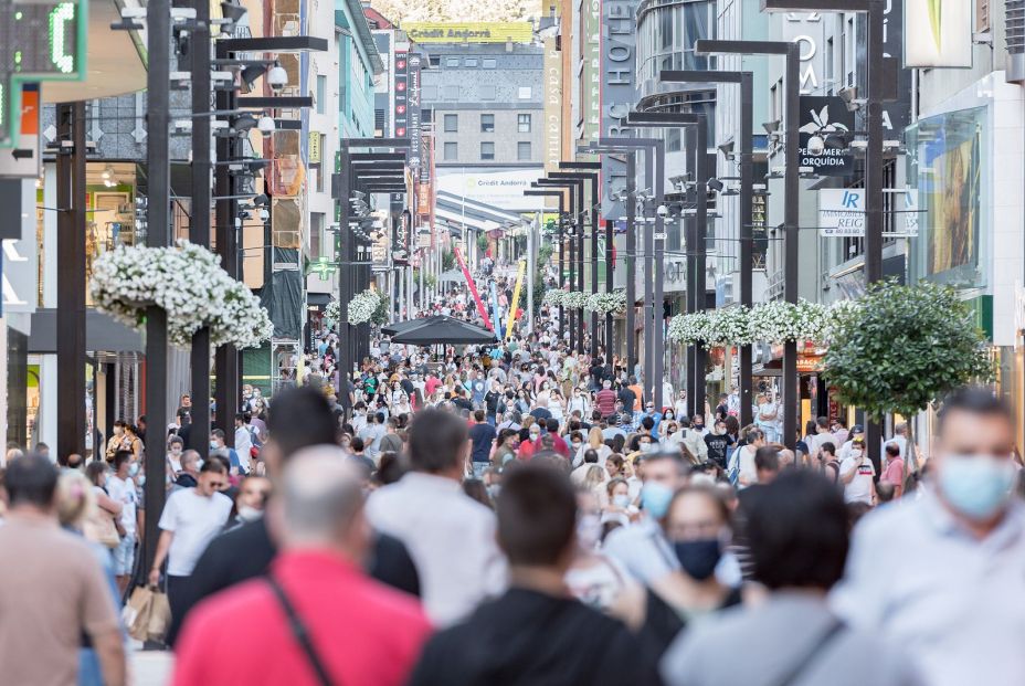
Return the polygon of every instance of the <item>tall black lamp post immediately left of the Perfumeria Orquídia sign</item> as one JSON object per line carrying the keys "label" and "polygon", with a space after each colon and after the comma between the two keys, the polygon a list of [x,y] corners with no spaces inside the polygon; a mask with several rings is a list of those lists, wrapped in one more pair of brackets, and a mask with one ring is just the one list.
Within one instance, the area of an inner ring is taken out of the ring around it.
{"label": "tall black lamp post immediately left of the Perfumeria Orqu\u00eddia sign", "polygon": [[[783,85],[785,87],[784,172],[783,189],[783,297],[788,303],[797,302],[797,192],[800,177],[797,169],[797,129],[800,128],[799,109],[801,93],[801,52],[797,43],[788,41],[708,41],[695,43],[695,53],[699,55],[782,55],[786,59]],[[797,441],[797,409],[800,408],[800,389],[797,387],[797,344],[790,341],[783,346],[783,444],[793,450]]]}

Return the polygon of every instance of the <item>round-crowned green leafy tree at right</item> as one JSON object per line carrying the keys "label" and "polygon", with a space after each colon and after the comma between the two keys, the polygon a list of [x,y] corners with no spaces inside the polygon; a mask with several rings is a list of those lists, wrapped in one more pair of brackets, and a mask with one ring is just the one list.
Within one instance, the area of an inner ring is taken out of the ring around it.
{"label": "round-crowned green leafy tree at right", "polygon": [[[843,402],[876,420],[911,418],[953,389],[993,376],[986,338],[953,288],[881,282],[834,314],[823,376]],[[913,451],[910,423],[908,430]]]}

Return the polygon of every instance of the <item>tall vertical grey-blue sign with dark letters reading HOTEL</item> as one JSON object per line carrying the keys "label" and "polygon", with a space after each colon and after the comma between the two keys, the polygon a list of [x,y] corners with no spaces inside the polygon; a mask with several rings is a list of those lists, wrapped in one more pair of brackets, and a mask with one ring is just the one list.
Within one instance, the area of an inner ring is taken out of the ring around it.
{"label": "tall vertical grey-blue sign with dark letters reading HOTEL", "polygon": [[[637,0],[604,0],[602,2],[602,137],[631,137],[633,130],[620,126],[637,102]],[[626,160],[621,156],[602,156],[603,189],[619,190],[626,186]],[[602,219],[616,219],[626,213],[621,201],[602,193]]]}

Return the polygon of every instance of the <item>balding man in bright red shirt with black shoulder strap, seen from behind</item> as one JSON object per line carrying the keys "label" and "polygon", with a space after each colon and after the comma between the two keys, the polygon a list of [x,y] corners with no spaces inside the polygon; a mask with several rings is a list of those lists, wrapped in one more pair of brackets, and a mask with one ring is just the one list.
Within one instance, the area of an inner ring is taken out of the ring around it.
{"label": "balding man in bright red shirt with black shoulder strap, seen from behind", "polygon": [[338,447],[306,448],[285,467],[282,492],[267,514],[282,539],[270,579],[189,614],[173,684],[404,684],[431,626],[415,599],[359,567],[370,541],[358,472]]}

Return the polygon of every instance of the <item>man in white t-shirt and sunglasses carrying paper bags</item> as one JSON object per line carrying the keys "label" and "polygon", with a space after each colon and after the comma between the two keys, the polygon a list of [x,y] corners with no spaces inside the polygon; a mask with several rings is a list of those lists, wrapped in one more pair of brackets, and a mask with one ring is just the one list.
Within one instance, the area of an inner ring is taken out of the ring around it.
{"label": "man in white t-shirt and sunglasses carrying paper bags", "polygon": [[[220,460],[208,460],[200,468],[193,488],[171,493],[160,514],[160,539],[149,583],[160,582],[160,567],[167,560],[167,594],[171,614],[182,616],[191,602],[192,569],[207,545],[221,532],[231,514],[231,498],[220,493],[228,483],[228,471]],[[172,645],[175,636],[168,635]]]}

